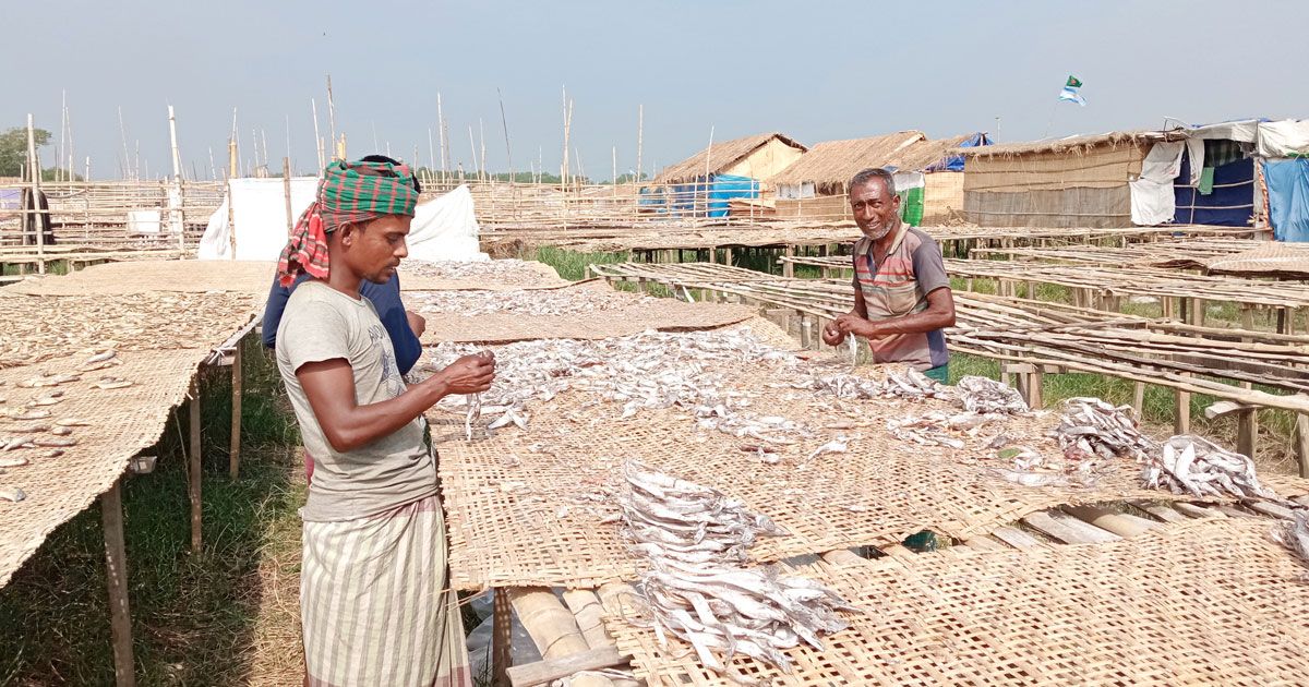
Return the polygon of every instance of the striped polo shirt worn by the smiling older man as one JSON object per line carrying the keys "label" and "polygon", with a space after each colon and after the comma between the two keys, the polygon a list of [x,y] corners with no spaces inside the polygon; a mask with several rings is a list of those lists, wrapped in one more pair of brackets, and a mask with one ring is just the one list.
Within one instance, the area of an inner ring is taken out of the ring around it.
{"label": "striped polo shirt worn by the smiling older man", "polygon": [[[855,288],[863,292],[868,319],[891,319],[927,310],[927,294],[950,288],[941,249],[919,229],[902,224],[882,264],[873,260],[873,241],[855,243]],[[876,362],[903,362],[919,370],[945,365],[950,353],[941,330],[894,334],[868,342]]]}

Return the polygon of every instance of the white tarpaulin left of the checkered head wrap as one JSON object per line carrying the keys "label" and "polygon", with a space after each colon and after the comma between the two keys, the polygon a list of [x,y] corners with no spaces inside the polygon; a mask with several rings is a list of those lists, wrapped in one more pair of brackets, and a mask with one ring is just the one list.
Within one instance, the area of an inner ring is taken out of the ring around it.
{"label": "white tarpaulin left of the checkered head wrap", "polygon": [[[232,228],[228,226],[228,203],[237,234],[237,260],[276,260],[287,246],[287,191],[283,179],[232,179],[230,195],[209,216],[209,226],[200,238],[202,260],[230,260]],[[317,177],[291,179],[291,221],[314,202]]]}

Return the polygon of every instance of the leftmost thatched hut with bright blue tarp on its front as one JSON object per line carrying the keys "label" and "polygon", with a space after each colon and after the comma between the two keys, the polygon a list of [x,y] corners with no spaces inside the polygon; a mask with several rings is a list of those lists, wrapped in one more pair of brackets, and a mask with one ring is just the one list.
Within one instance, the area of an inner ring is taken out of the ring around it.
{"label": "leftmost thatched hut with bright blue tarp on its front", "polygon": [[788,167],[808,150],[781,133],[758,133],[709,144],[670,165],[641,190],[644,212],[724,217],[733,198],[755,199],[761,182]]}

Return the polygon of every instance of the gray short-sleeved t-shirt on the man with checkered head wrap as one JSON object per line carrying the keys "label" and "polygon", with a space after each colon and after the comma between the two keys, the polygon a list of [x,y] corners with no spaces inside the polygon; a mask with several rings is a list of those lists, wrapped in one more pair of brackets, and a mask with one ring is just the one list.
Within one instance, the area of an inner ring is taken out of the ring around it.
{"label": "gray short-sleeved t-shirt on the man with checkered head wrap", "polygon": [[372,301],[306,281],[291,294],[278,326],[278,370],[305,450],[314,458],[314,479],[300,516],[310,522],[367,518],[436,493],[436,461],[423,442],[421,417],[355,450],[331,448],[296,370],[332,359],[350,362],[360,406],[404,393],[391,340]]}

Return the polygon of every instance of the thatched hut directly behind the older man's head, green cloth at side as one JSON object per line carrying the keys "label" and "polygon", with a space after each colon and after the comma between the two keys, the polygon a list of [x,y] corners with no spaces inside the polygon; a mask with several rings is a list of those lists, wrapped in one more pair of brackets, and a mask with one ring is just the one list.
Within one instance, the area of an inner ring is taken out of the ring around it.
{"label": "thatched hut directly behind the older man's head, green cloth at side", "polygon": [[963,158],[957,148],[987,145],[986,133],[928,140],[922,131],[825,141],[768,179],[779,217],[850,220],[851,177],[868,167],[895,171],[895,190],[910,224],[940,224],[963,209]]}

